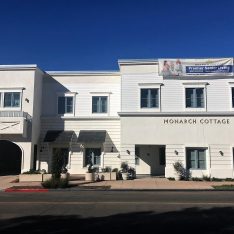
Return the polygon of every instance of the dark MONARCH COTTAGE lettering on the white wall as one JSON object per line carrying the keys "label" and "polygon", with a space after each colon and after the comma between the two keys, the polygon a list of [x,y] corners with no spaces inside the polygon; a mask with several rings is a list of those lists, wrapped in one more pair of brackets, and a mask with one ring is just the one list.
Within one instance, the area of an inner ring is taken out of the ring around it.
{"label": "dark MONARCH COTTAGE lettering on the white wall", "polygon": [[204,124],[204,125],[227,125],[230,124],[230,119],[216,119],[216,118],[201,118],[201,119],[195,119],[195,118],[166,118],[163,119],[163,123],[167,125],[173,125],[173,124]]}

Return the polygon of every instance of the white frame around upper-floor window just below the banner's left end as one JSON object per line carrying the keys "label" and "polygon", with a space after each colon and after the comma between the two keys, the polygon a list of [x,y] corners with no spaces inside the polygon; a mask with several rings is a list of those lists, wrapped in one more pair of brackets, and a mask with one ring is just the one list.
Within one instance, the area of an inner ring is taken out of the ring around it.
{"label": "white frame around upper-floor window just below the banner's left end", "polygon": [[[162,83],[139,83],[138,84],[138,111],[141,112],[160,112],[161,111],[161,86]],[[147,108],[141,107],[141,90],[158,89],[158,107]]]}

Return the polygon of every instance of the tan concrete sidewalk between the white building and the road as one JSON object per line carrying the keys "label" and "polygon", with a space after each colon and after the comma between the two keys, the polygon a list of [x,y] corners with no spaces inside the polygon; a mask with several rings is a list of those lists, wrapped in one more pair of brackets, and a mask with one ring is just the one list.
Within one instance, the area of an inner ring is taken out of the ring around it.
{"label": "tan concrete sidewalk between the white building and the road", "polygon": [[[1,176],[0,190],[11,187],[39,187],[41,182],[16,182],[18,176]],[[234,182],[205,182],[205,181],[170,181],[166,178],[147,177],[135,180],[117,180],[87,182],[72,180],[72,189],[113,189],[113,190],[213,190],[214,185],[234,185]]]}

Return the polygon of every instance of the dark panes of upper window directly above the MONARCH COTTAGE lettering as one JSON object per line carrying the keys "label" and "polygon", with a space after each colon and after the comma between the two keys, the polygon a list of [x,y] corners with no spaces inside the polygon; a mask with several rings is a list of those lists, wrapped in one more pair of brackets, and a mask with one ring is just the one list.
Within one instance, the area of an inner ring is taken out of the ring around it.
{"label": "dark panes of upper window directly above the MONARCH COTTAGE lettering", "polygon": [[204,88],[186,88],[186,108],[204,108]]}

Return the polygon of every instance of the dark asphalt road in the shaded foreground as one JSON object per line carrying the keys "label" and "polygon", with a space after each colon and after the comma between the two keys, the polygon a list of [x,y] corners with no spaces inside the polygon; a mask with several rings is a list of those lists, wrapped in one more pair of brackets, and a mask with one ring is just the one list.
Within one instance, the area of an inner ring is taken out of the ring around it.
{"label": "dark asphalt road in the shaded foreground", "polygon": [[234,233],[234,192],[0,193],[0,233]]}

